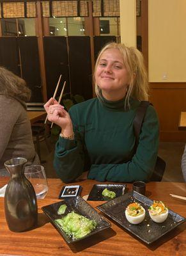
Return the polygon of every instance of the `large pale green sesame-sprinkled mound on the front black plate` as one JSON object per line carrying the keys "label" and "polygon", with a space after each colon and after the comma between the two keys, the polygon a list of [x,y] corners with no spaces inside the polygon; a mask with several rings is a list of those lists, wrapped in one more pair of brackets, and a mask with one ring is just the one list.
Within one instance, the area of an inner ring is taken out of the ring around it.
{"label": "large pale green sesame-sprinkled mound on the front black plate", "polygon": [[74,211],[69,212],[61,219],[55,220],[55,223],[72,239],[82,238],[97,227],[96,221],[89,220]]}

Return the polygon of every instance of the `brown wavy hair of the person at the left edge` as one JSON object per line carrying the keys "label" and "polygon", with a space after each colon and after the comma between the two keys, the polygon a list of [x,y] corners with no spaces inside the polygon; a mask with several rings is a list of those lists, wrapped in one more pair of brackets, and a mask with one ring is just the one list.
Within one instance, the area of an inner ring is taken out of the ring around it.
{"label": "brown wavy hair of the person at the left edge", "polygon": [[0,93],[24,102],[31,98],[31,90],[26,86],[26,81],[4,67],[0,67]]}

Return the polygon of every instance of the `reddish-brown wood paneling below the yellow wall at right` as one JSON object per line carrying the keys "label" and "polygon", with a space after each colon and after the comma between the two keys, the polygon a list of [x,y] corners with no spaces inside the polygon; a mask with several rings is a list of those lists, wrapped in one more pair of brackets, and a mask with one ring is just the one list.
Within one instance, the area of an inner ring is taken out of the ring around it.
{"label": "reddish-brown wood paneling below the yellow wall at right", "polygon": [[186,83],[150,83],[150,101],[160,121],[161,141],[186,141],[179,131],[180,113],[186,111]]}

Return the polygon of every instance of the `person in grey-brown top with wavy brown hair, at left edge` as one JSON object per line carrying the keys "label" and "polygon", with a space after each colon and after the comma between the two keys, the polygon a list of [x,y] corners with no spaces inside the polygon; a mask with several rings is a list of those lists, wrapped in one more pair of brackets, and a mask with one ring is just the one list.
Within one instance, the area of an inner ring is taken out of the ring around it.
{"label": "person in grey-brown top with wavy brown hair, at left edge", "polygon": [[31,97],[23,79],[0,67],[0,169],[13,157],[25,157],[27,164],[38,164],[26,103]]}

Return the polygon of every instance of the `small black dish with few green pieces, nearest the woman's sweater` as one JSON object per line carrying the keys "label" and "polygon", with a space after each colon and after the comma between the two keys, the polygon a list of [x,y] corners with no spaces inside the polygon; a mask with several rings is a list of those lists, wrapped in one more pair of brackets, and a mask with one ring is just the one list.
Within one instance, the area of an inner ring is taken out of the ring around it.
{"label": "small black dish with few green pieces, nearest the woman's sweater", "polygon": [[124,195],[127,191],[127,186],[125,184],[94,184],[91,189],[88,199],[90,201],[109,201],[112,198],[105,197],[102,195],[102,191],[107,188],[109,191],[114,191],[116,193],[116,198],[118,196]]}

